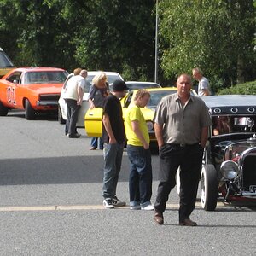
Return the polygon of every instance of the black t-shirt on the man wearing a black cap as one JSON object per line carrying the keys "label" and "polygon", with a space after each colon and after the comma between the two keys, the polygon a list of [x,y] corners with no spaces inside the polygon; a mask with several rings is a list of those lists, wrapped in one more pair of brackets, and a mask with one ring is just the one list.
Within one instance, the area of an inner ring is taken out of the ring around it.
{"label": "black t-shirt on the man wearing a black cap", "polygon": [[[109,116],[110,125],[112,127],[113,135],[118,143],[125,142],[125,126],[123,120],[123,111],[119,99],[110,94],[107,96],[103,114],[106,113]],[[108,133],[103,125],[103,141],[104,143],[109,142]]]}

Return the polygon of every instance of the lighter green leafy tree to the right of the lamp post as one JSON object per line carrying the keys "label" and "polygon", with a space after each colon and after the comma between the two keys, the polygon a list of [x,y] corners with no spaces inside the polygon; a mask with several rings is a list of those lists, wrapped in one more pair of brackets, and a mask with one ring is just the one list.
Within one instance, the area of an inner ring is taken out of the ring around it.
{"label": "lighter green leafy tree to the right of the lamp post", "polygon": [[219,86],[255,77],[253,0],[163,0],[160,17],[166,77],[193,67],[201,67],[214,84],[222,79]]}

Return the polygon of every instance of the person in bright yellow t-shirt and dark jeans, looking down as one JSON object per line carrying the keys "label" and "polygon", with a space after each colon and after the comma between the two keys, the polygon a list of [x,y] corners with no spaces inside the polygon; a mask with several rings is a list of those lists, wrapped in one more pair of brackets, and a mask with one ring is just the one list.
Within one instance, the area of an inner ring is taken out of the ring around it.
{"label": "person in bright yellow t-shirt and dark jeans, looking down", "polygon": [[134,102],[125,115],[127,154],[131,162],[129,177],[130,209],[154,210],[152,196],[152,166],[149,149],[148,127],[141,108],[144,108],[150,94],[148,90],[137,90]]}

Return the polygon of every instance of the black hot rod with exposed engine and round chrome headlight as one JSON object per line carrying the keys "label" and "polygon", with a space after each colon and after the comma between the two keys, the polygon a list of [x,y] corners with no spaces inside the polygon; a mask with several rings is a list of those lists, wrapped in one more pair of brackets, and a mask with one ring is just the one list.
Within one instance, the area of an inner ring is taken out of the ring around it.
{"label": "black hot rod with exposed engine and round chrome headlight", "polygon": [[202,97],[212,117],[201,172],[201,206],[218,198],[256,203],[256,96]]}

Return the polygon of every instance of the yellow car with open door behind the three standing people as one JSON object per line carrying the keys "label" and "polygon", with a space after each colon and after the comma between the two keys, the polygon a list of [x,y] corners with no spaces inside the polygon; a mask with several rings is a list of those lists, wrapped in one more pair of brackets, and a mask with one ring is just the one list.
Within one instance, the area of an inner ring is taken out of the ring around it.
{"label": "yellow car with open door behind the three standing people", "polygon": [[[148,132],[150,141],[154,142],[154,111],[157,104],[160,100],[167,95],[171,95],[177,92],[177,87],[164,87],[164,88],[152,88],[147,89],[151,95],[148,105],[145,108],[142,108],[144,119],[148,125]],[[137,90],[132,90],[125,95],[121,100],[121,105],[123,108],[123,117],[125,117],[125,112],[130,103],[133,101],[133,98]],[[191,90],[191,94],[197,96],[195,90]],[[87,135],[89,137],[102,137],[102,108],[93,108],[89,109],[84,116],[84,127]]]}

